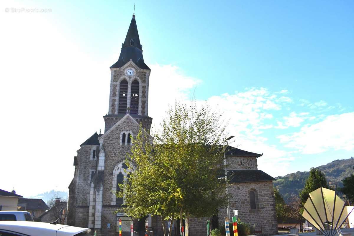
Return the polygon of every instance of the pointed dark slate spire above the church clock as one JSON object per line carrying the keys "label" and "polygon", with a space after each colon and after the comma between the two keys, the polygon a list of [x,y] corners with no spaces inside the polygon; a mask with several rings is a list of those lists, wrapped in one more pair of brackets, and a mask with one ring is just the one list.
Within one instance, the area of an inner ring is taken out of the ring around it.
{"label": "pointed dark slate spire above the church clock", "polygon": [[119,68],[132,60],[140,69],[150,68],[144,63],[142,45],[140,44],[138,27],[136,26],[135,14],[130,22],[127,36],[124,43],[122,43],[122,49],[119,55],[118,62],[114,63],[111,68]]}

